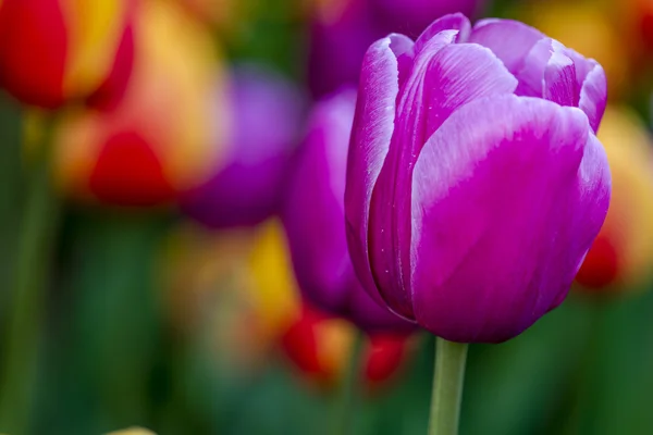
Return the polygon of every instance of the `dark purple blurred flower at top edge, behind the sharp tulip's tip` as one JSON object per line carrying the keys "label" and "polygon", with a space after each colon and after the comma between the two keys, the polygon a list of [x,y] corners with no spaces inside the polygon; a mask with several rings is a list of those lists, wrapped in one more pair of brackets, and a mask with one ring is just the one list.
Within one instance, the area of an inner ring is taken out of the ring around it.
{"label": "dark purple blurred flower at top edge, behind the sharp tulip's tip", "polygon": [[356,85],[367,48],[390,33],[419,35],[453,12],[476,16],[488,0],[317,1],[311,23],[309,85],[316,97]]}

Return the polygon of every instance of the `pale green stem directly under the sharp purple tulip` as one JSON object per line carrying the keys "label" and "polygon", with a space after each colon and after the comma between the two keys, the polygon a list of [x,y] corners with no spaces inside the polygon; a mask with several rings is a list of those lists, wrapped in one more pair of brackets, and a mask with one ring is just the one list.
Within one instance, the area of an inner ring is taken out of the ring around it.
{"label": "pale green stem directly under the sharp purple tulip", "polygon": [[438,338],[436,347],[429,435],[456,435],[468,345]]}

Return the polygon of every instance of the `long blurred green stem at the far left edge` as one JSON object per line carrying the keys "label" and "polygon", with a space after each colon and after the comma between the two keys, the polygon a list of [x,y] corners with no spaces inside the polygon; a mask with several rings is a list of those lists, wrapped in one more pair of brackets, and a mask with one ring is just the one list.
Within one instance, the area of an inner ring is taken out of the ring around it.
{"label": "long blurred green stem at the far left edge", "polygon": [[29,432],[45,314],[45,287],[59,215],[49,172],[51,120],[44,125],[29,162],[28,190],[21,220],[15,275],[8,310],[0,372],[0,431]]}

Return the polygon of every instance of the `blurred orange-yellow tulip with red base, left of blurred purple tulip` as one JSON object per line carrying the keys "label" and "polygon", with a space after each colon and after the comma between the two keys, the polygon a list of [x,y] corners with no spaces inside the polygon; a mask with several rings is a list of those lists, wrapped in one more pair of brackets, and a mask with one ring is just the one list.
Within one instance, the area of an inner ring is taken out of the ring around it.
{"label": "blurred orange-yellow tulip with red base, left of blurred purple tulip", "polygon": [[[137,10],[136,59],[120,103],[63,116],[54,175],[66,194],[118,206],[155,206],[208,178],[220,158],[222,80],[210,35],[174,3]],[[217,113],[220,112],[220,113]]]}

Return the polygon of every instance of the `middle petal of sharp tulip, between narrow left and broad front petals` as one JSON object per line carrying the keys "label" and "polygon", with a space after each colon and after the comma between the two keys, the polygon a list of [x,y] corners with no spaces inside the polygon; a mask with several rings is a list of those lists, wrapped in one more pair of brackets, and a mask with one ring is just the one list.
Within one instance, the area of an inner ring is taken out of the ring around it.
{"label": "middle petal of sharp tulip, between narrow left and broad front petals", "polygon": [[[451,32],[451,30],[449,30]],[[451,41],[447,32],[431,39],[415,61],[399,97],[390,152],[372,194],[370,261],[383,299],[411,319],[410,190],[412,167],[427,138],[459,107],[475,99],[512,94],[517,80],[486,48],[433,45]]]}

